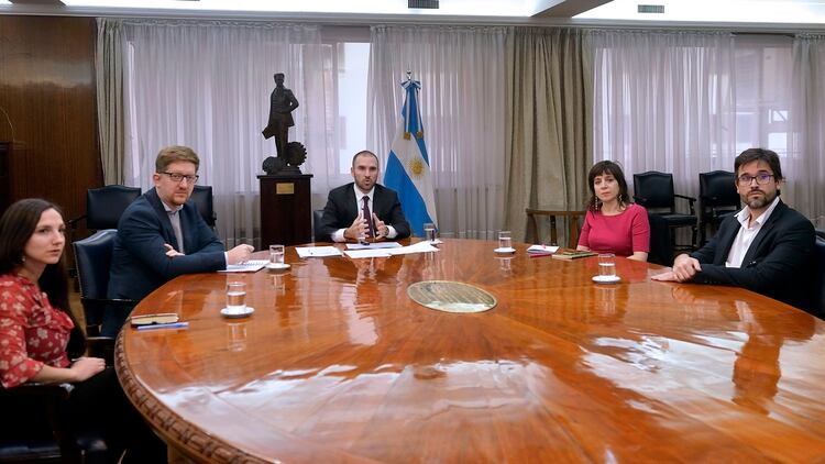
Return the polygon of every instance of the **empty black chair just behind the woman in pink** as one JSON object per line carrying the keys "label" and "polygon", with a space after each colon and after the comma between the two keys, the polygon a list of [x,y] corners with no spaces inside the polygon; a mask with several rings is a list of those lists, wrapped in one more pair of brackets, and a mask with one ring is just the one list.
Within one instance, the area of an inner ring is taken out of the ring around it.
{"label": "empty black chair just behind the woman in pink", "polygon": [[[649,170],[634,174],[635,201],[645,207],[648,212],[662,217],[670,228],[671,243],[674,248],[694,250],[696,243],[696,211],[693,203],[696,199],[678,195],[673,191],[673,175]],[[690,213],[676,212],[676,198],[688,200]],[[674,229],[691,228],[691,244],[676,245]]]}

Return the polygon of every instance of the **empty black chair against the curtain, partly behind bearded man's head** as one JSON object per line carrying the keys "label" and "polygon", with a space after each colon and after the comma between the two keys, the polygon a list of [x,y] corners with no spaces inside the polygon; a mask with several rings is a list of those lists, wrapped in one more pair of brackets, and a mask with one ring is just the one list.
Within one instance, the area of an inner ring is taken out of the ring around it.
{"label": "empty black chair against the curtain, partly behind bearded man's head", "polygon": [[700,246],[706,242],[707,227],[718,229],[722,220],[739,210],[736,175],[727,170],[698,174],[698,234]]}

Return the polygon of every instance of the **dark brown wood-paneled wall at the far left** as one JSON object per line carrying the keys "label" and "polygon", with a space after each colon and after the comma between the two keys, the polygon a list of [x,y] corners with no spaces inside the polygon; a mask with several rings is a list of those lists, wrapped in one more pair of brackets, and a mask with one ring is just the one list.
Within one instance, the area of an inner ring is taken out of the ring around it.
{"label": "dark brown wood-paneled wall at the far left", "polygon": [[[12,201],[43,197],[66,220],[102,185],[94,18],[0,15],[0,107],[25,150],[12,159]],[[0,140],[12,136],[0,112]]]}

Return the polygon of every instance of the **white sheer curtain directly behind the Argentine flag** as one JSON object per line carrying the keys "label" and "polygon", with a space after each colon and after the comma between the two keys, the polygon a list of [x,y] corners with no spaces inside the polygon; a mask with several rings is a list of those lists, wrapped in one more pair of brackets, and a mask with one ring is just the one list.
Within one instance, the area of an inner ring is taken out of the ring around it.
{"label": "white sheer curtain directly behind the Argentine flag", "polygon": [[491,239],[504,221],[504,27],[374,26],[367,143],[386,165],[406,71],[421,81],[424,137],[443,236]]}

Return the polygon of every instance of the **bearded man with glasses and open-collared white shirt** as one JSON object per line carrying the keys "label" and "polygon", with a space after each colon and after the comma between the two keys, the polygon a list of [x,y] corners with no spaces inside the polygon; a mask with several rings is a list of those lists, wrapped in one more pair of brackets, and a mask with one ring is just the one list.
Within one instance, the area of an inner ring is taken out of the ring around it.
{"label": "bearded man with glasses and open-collared white shirt", "polygon": [[676,256],[671,272],[652,278],[744,287],[812,311],[814,227],[779,199],[779,156],[746,150],[734,172],[746,207],[726,218],[704,247]]}

